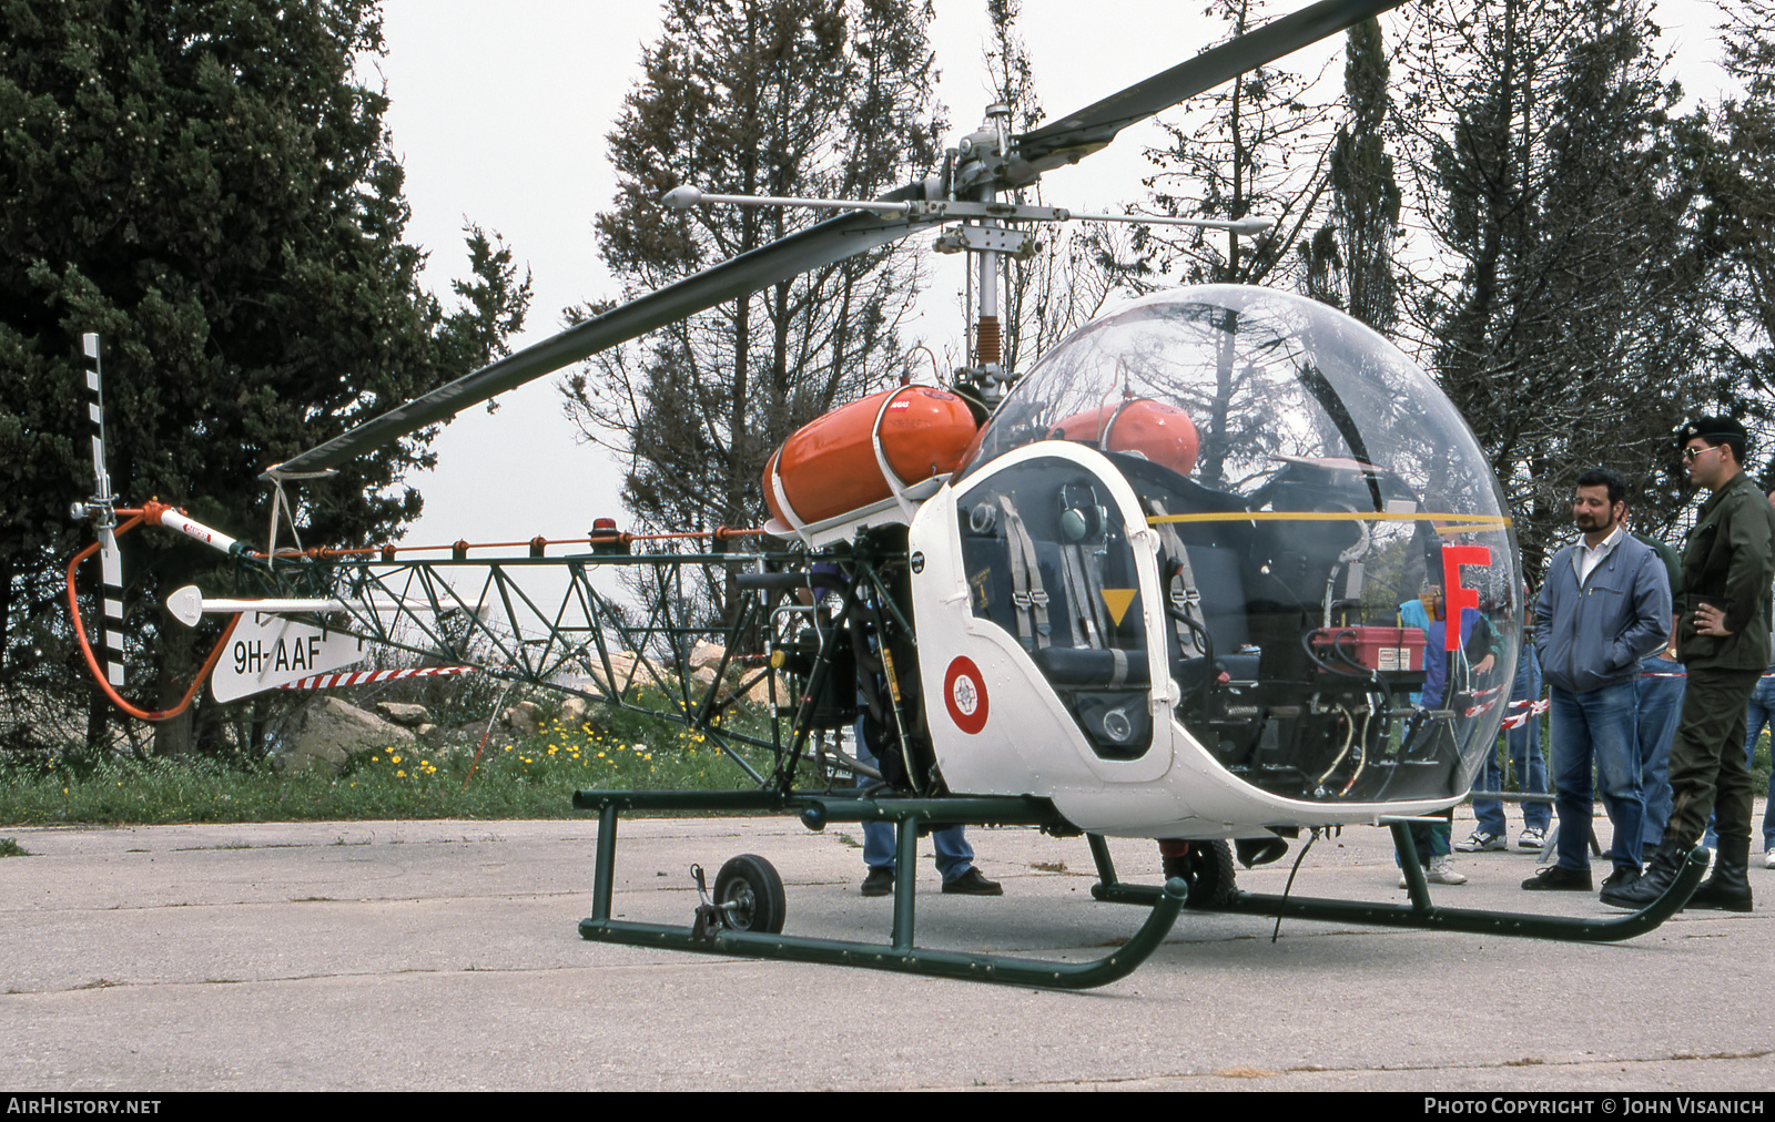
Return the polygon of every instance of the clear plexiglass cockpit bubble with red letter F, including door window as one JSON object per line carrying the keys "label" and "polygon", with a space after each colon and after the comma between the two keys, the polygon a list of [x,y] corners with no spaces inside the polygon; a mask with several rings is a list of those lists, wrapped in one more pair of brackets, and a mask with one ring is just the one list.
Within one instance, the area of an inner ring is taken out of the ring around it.
{"label": "clear plexiglass cockpit bubble with red letter F, including door window", "polygon": [[[1044,440],[1109,469],[999,463]],[[1019,636],[1104,758],[1159,731],[1129,701],[1150,643],[1182,730],[1287,799],[1459,795],[1500,721],[1528,715],[1511,708],[1521,566],[1486,458],[1416,364],[1328,305],[1205,286],[1106,316],[1019,382],[955,486],[976,614]],[[1129,612],[1148,529],[1164,602]]]}

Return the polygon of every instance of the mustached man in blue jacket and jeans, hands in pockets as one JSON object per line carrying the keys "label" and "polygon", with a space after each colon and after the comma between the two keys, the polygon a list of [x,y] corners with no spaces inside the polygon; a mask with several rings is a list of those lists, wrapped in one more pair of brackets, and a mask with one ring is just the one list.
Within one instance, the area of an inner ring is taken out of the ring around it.
{"label": "mustached man in blue jacket and jeans, hands in pockets", "polygon": [[1628,483],[1619,472],[1578,476],[1571,518],[1580,540],[1553,554],[1535,598],[1535,650],[1548,683],[1558,863],[1526,889],[1590,891],[1590,767],[1615,826],[1613,873],[1603,888],[1640,877],[1638,687],[1640,657],[1670,630],[1670,577],[1663,561],[1621,524]]}

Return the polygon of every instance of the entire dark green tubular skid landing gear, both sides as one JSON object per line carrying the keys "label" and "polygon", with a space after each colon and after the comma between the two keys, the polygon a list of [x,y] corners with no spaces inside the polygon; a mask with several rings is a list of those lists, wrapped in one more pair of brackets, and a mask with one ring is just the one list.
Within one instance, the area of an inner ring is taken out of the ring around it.
{"label": "entire dark green tubular skid landing gear, both sides", "polygon": [[[916,868],[919,827],[928,826],[1037,826],[1072,833],[1065,818],[1045,799],[1017,797],[944,797],[944,799],[854,799],[820,794],[783,794],[777,790],[730,792],[644,792],[644,790],[582,790],[573,794],[577,810],[598,811],[598,852],[593,873],[591,916],[582,920],[579,934],[596,943],[623,943],[628,946],[662,946],[712,955],[746,959],[785,959],[818,962],[825,966],[863,966],[939,978],[966,978],[1005,985],[1038,985],[1047,989],[1090,989],[1108,985],[1132,973],[1170,934],[1189,895],[1189,884],[1172,879],[1164,886],[1127,884],[1116,877],[1109,847],[1097,834],[1086,834],[1097,863],[1099,884],[1092,895],[1115,904],[1141,904],[1150,911],[1134,936],[1113,953],[1090,962],[1054,962],[1044,959],[1015,959],[967,952],[928,950],[914,939],[916,889],[914,877],[895,882],[893,934],[889,943],[852,943],[785,936],[781,930],[744,930],[756,916],[765,927],[781,928],[783,911],[753,904],[781,897],[781,881],[761,857],[737,859],[756,882],[742,886],[738,898],[744,907],[728,902],[719,889],[714,902],[705,900],[696,909],[692,923],[673,927],[637,923],[611,916],[611,897],[616,884],[616,824],[623,811],[667,813],[767,813],[797,815],[809,829],[824,829],[829,822],[893,822],[898,829],[898,868]],[[1365,923],[1376,927],[1418,927],[1427,930],[1461,930],[1491,936],[1521,936],[1535,939],[1564,939],[1598,943],[1642,936],[1688,900],[1706,872],[1706,850],[1688,857],[1670,889],[1654,904],[1629,916],[1608,920],[1574,920],[1562,916],[1532,916],[1519,913],[1491,913],[1431,904],[1429,886],[1415,859],[1411,834],[1406,824],[1393,824],[1393,840],[1406,856],[1409,904],[1363,904],[1354,900],[1324,900],[1312,897],[1278,897],[1264,893],[1216,893],[1212,902],[1198,902],[1198,911],[1242,913],[1251,916],[1294,916],[1299,920],[1326,920]],[[726,870],[724,870],[726,875]],[[701,870],[698,870],[701,888]],[[756,891],[754,891],[756,889]]]}

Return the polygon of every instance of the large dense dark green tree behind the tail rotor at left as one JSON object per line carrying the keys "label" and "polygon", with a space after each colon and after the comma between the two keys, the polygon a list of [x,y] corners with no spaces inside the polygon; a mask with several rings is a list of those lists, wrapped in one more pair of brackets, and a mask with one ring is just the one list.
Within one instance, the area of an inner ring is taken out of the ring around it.
{"label": "large dense dark green tree behind the tail rotor at left", "polygon": [[[78,666],[44,593],[80,533],[67,504],[92,494],[82,332],[105,344],[114,490],[245,536],[268,515],[261,469],[499,353],[529,286],[470,229],[465,305],[419,288],[387,99],[353,76],[382,50],[373,0],[14,0],[0,25],[0,676],[48,685]],[[304,534],[364,543],[417,515],[401,479],[426,440],[309,490]],[[162,707],[202,637],[153,607],[217,554],[124,543],[137,671]],[[62,653],[34,660],[34,643]],[[199,703],[156,747],[209,747],[218,728]]]}

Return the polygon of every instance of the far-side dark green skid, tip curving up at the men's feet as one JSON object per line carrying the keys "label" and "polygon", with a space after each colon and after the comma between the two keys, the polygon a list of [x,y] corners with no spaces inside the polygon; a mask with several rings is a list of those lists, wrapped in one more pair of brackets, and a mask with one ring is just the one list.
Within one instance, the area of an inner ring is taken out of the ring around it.
{"label": "far-side dark green skid, tip curving up at the men's feet", "polygon": [[[1633,939],[1653,930],[1688,904],[1690,893],[1700,884],[1708,872],[1708,850],[1697,849],[1683,863],[1674,884],[1645,907],[1628,916],[1606,920],[1582,920],[1573,916],[1534,916],[1526,913],[1495,913],[1470,907],[1436,907],[1431,902],[1429,884],[1424,881],[1424,866],[1418,863],[1418,850],[1411,843],[1408,822],[1393,822],[1393,845],[1404,866],[1406,891],[1409,904],[1367,904],[1361,900],[1326,900],[1317,897],[1278,897],[1271,893],[1235,891],[1225,904],[1205,907],[1205,911],[1241,913],[1276,920],[1292,916],[1296,920],[1326,920],[1340,923],[1369,923],[1374,927],[1416,927],[1424,930],[1459,930],[1480,936],[1518,936],[1525,939],[1560,939],[1566,943],[1615,943]],[[1092,857],[1097,861],[1099,882],[1092,886],[1092,895],[1111,904],[1150,904],[1156,895],[1166,889],[1127,884],[1116,879],[1115,863],[1109,859],[1109,847],[1097,834],[1086,834],[1092,845]]]}

